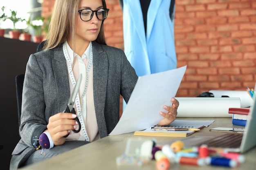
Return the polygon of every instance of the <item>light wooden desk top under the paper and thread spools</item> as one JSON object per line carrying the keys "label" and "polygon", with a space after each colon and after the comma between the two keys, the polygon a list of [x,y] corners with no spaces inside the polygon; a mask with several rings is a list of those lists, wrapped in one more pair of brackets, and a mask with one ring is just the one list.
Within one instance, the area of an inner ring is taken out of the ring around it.
{"label": "light wooden desk top under the paper and thread spools", "polygon": [[[181,119],[181,118],[180,118]],[[210,128],[232,127],[231,118],[183,118],[184,120],[215,120],[207,128],[196,132],[208,132]],[[116,157],[125,152],[126,141],[133,133],[108,136],[98,141],[94,141],[85,146],[70,150],[51,159],[35,163],[20,170],[156,170],[156,161],[150,161],[142,166],[117,166]],[[137,136],[136,136],[137,137]],[[153,137],[142,137],[152,139]],[[178,137],[154,137],[157,144],[172,140],[181,139]],[[240,164],[236,170],[252,170],[256,166],[256,148],[245,154],[246,162]],[[225,167],[216,166],[187,166],[172,164],[170,170],[227,170]]]}

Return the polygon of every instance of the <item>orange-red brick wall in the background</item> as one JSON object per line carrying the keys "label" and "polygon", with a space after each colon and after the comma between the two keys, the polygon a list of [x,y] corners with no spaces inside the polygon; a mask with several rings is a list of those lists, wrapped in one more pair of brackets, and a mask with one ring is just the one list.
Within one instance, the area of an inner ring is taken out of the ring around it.
{"label": "orange-red brick wall in the background", "polygon": [[[44,0],[48,16],[55,0]],[[124,49],[119,0],[106,0],[106,42]],[[187,65],[177,97],[213,89],[245,90],[256,82],[256,0],[176,0],[177,67]]]}

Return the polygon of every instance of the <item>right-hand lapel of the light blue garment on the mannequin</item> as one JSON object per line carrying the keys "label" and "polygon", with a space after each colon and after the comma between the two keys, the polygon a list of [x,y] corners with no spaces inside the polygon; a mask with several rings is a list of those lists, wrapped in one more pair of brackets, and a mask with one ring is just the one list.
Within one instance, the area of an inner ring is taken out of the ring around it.
{"label": "right-hand lapel of the light blue garment on the mannequin", "polygon": [[[151,0],[149,7],[148,7],[148,14],[147,14],[147,37],[146,40],[148,41],[150,38],[150,34],[153,29],[153,25],[155,22],[155,18],[157,16],[157,11],[159,10],[160,4],[162,0]],[[161,9],[160,9],[161,10]]]}

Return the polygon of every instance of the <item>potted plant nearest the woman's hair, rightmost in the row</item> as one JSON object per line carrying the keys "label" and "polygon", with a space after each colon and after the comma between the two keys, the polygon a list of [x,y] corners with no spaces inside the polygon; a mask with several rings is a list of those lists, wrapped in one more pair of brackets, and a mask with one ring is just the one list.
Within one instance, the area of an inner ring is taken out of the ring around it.
{"label": "potted plant nearest the woman's hair, rightmost in the row", "polygon": [[43,32],[43,20],[44,18],[41,15],[38,15],[34,20],[30,23],[31,27],[35,31],[35,35],[33,36],[33,41],[36,43],[40,43],[43,40],[42,32]]}

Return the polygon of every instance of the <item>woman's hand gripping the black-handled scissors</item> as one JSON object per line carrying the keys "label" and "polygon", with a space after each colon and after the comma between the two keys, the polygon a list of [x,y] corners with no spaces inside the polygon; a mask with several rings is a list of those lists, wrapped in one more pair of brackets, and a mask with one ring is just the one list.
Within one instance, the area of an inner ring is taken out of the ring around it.
{"label": "woman's hand gripping the black-handled scissors", "polygon": [[52,137],[55,146],[65,143],[65,137],[70,130],[76,129],[78,123],[74,120],[76,115],[73,113],[57,113],[49,118],[47,130]]}

